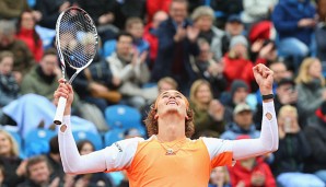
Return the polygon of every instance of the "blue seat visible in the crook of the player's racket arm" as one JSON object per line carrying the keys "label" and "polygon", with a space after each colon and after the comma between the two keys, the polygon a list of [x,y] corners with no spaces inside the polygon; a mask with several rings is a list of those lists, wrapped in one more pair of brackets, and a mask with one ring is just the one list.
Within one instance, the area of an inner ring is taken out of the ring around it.
{"label": "blue seat visible in the crook of the player's racket arm", "polygon": [[100,135],[89,131],[73,131],[72,136],[75,142],[81,140],[90,140],[94,144],[95,150],[101,150],[103,148],[103,140]]}

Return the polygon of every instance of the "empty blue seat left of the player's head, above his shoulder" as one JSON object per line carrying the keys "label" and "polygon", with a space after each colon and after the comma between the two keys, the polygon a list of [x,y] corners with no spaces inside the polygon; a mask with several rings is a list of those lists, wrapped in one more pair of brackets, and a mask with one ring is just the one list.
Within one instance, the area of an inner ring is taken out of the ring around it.
{"label": "empty blue seat left of the player's head, above his shoulder", "polygon": [[112,105],[105,109],[105,120],[110,129],[141,127],[141,114],[137,108],[127,105]]}

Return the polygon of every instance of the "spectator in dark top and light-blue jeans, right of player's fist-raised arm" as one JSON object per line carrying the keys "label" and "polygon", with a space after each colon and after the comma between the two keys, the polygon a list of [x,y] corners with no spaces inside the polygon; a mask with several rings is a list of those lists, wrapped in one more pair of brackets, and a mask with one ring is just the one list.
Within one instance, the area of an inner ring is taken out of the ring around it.
{"label": "spectator in dark top and light-blue jeans, right of player's fist-raised arm", "polygon": [[278,115],[279,149],[273,153],[272,171],[277,182],[287,187],[325,186],[315,175],[303,173],[303,161],[311,147],[298,121],[296,108],[284,105]]}

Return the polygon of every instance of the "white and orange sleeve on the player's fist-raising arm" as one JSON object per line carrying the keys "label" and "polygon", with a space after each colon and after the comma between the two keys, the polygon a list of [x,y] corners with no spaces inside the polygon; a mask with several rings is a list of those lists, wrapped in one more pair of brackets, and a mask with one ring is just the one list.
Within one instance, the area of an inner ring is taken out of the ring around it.
{"label": "white and orange sleeve on the player's fist-raising arm", "polygon": [[257,139],[223,140],[202,138],[212,167],[233,165],[235,160],[257,156],[278,149],[278,125],[273,102],[263,103],[263,125],[260,137]]}

